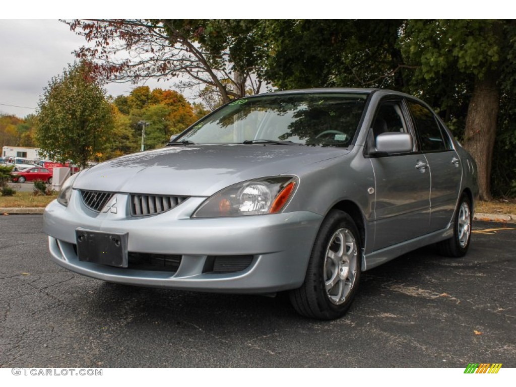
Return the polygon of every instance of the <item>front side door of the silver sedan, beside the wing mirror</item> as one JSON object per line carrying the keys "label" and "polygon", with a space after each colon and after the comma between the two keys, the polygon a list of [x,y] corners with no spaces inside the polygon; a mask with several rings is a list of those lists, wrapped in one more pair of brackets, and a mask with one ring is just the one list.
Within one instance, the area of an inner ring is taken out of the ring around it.
{"label": "front side door of the silver sedan, beside the wing mirror", "polygon": [[[385,132],[414,133],[402,99],[381,101],[369,139]],[[375,181],[375,250],[396,245],[428,232],[430,221],[430,173],[423,154],[372,155]],[[368,144],[368,148],[374,144]]]}

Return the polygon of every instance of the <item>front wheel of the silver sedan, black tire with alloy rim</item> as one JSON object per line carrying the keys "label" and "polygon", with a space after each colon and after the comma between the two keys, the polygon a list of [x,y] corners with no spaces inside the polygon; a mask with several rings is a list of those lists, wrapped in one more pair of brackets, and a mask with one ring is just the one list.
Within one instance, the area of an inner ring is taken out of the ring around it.
{"label": "front wheel of the silver sedan, black tire with alloy rim", "polygon": [[331,211],[315,239],[304,283],[290,293],[294,309],[323,320],[343,316],[357,293],[361,251],[353,219],[343,211]]}

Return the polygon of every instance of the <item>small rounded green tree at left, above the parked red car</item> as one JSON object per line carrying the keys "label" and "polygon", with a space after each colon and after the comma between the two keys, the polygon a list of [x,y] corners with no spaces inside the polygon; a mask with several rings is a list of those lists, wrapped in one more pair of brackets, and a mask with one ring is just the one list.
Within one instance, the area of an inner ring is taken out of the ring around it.
{"label": "small rounded green tree at left, above the parked red car", "polygon": [[45,157],[85,167],[102,156],[113,125],[111,105],[89,62],[52,78],[39,101],[36,140]]}

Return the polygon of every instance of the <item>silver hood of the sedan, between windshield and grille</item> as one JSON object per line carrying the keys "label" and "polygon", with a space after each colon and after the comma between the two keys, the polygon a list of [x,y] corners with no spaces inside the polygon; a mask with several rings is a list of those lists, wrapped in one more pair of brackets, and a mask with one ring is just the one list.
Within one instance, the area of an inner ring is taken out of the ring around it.
{"label": "silver hood of the sedan, between windshield and grille", "polygon": [[122,156],[86,169],[74,188],[156,195],[211,196],[232,184],[296,174],[300,167],[349,153],[347,149],[227,144],[174,146]]}

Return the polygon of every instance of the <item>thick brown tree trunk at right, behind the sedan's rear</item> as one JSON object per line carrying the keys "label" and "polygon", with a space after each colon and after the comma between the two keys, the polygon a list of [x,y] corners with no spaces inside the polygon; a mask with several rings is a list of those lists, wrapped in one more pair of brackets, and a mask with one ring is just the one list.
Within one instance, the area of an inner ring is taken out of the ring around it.
{"label": "thick brown tree trunk at right, behind the sedan's rear", "polygon": [[496,135],[496,119],[500,95],[496,85],[497,72],[488,70],[477,79],[467,108],[464,148],[477,163],[481,200],[491,200],[491,159]]}

